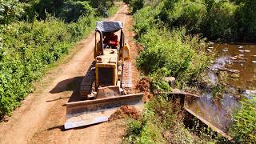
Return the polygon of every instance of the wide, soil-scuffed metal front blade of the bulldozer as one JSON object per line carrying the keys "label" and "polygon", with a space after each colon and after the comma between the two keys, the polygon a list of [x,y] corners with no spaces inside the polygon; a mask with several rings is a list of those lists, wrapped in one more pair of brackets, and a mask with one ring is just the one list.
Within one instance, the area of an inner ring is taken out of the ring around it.
{"label": "wide, soil-scuffed metal front blade of the bulldozer", "polygon": [[143,94],[129,94],[118,97],[66,103],[65,129],[106,122],[119,106],[142,106]]}

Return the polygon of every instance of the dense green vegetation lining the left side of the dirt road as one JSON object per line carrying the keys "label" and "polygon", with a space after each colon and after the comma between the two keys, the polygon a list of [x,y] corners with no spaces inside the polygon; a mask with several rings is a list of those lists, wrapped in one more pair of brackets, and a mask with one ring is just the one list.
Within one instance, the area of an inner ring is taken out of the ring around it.
{"label": "dense green vegetation lining the left side of the dirt road", "polygon": [[0,0],[0,116],[11,114],[50,64],[116,10],[112,0]]}

